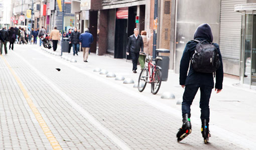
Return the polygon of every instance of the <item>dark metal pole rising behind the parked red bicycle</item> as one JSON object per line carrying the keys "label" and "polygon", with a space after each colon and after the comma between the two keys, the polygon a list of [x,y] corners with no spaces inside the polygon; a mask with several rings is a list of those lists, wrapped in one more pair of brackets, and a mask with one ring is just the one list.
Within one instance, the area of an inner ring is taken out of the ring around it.
{"label": "dark metal pole rising behind the parked red bicycle", "polygon": [[157,48],[157,28],[158,25],[158,0],[155,0],[155,10],[154,10],[154,36],[153,36],[153,62],[156,60],[156,48]]}

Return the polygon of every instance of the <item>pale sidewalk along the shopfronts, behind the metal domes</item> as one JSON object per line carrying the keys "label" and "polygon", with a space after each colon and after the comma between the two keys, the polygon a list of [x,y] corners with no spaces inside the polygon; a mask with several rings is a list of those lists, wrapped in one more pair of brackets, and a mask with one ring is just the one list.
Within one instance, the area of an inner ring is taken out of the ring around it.
{"label": "pale sidewalk along the shopfronts, behind the metal domes", "polygon": [[[60,49],[58,50],[60,51]],[[108,55],[98,56],[94,53],[91,53],[88,59],[89,62],[85,63],[82,61],[82,52],[79,53],[79,56],[73,56],[67,53],[63,54],[77,59],[77,63],[71,64],[84,70],[92,71],[93,68],[100,67],[102,69],[108,70],[109,72],[114,72],[117,75],[123,75],[125,78],[133,78],[135,82],[138,82],[140,72],[138,71],[136,74],[132,72],[132,63],[129,60],[114,59]],[[138,65],[138,70],[139,68],[140,66]],[[108,80],[116,83],[116,81],[113,79]],[[118,83],[122,84],[121,81]],[[245,138],[244,140],[247,139],[256,143],[256,138],[254,138],[256,131],[248,129],[254,128],[254,126],[256,126],[256,120],[253,119],[256,118],[256,90],[236,86],[235,84],[237,83],[239,83],[239,80],[237,79],[224,77],[223,90],[218,94],[212,91],[210,100],[210,125],[216,124],[221,128],[224,128],[230,132],[234,132],[238,136]],[[133,85],[122,85],[131,88],[133,87]],[[138,91],[137,88],[133,90]],[[161,99],[161,94],[166,91],[172,92],[176,99]],[[147,84],[146,89],[142,94],[154,98],[155,100],[160,101],[168,106],[172,106],[173,108],[180,111],[181,105],[177,105],[176,102],[182,101],[183,91],[184,89],[179,85],[179,74],[169,70],[168,81],[162,82],[161,88],[157,95],[151,94],[150,84]],[[192,118],[193,116],[200,118],[199,100],[200,92],[197,93],[191,107]]]}

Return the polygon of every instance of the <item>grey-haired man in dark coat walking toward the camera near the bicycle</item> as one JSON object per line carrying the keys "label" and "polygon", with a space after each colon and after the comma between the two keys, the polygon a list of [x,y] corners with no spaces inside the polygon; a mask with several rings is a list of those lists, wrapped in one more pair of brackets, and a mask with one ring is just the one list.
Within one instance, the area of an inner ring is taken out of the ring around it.
{"label": "grey-haired man in dark coat walking toward the camera near the bicycle", "polygon": [[139,35],[139,29],[134,29],[134,34],[129,37],[127,47],[126,47],[126,54],[129,55],[131,53],[133,59],[133,72],[137,73],[137,64],[139,59],[139,52],[143,52],[143,39],[142,36]]}

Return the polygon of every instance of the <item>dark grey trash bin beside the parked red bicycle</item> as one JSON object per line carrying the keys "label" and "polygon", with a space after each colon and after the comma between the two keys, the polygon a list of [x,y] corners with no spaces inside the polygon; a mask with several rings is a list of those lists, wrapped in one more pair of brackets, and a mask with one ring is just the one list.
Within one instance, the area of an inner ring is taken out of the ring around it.
{"label": "dark grey trash bin beside the parked red bicycle", "polygon": [[162,60],[157,61],[157,65],[162,67],[162,70],[161,70],[161,72],[162,72],[162,81],[167,81],[170,58],[169,58],[169,56],[159,55],[159,52],[161,52],[161,53],[170,53],[170,50],[169,49],[164,49],[164,48],[159,48],[159,49],[156,49],[156,52],[157,52],[157,56],[162,57]]}

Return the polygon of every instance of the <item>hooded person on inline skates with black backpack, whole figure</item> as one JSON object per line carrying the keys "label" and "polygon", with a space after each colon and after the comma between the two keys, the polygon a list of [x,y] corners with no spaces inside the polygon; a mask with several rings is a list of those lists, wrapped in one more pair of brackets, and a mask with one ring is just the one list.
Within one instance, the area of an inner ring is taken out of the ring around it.
{"label": "hooded person on inline skates with black backpack, whole figure", "polygon": [[[180,85],[183,88],[185,87],[182,101],[183,125],[177,133],[178,141],[185,138],[192,131],[190,105],[200,88],[201,133],[204,142],[208,142],[210,136],[209,99],[212,88],[214,88],[213,72],[214,75],[216,72],[215,91],[217,93],[221,91],[223,81],[223,66],[219,45],[212,43],[212,41],[211,27],[204,23],[197,27],[194,40],[189,41],[184,49],[180,62]],[[189,73],[187,75],[188,68]]]}

